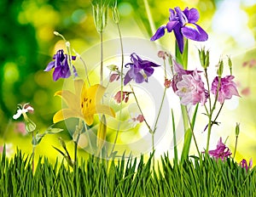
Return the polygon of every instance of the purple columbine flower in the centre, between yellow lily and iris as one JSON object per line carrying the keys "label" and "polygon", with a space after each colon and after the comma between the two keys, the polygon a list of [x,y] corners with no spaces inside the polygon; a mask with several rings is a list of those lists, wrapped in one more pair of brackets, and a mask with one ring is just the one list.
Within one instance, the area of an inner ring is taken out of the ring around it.
{"label": "purple columbine flower in the centre, between yellow lily and iris", "polygon": [[125,75],[124,84],[131,82],[133,79],[137,83],[148,82],[148,76],[152,76],[154,72],[153,67],[158,67],[151,61],[143,60],[136,53],[131,53],[131,63],[125,65],[127,68],[130,66],[130,70]]}

